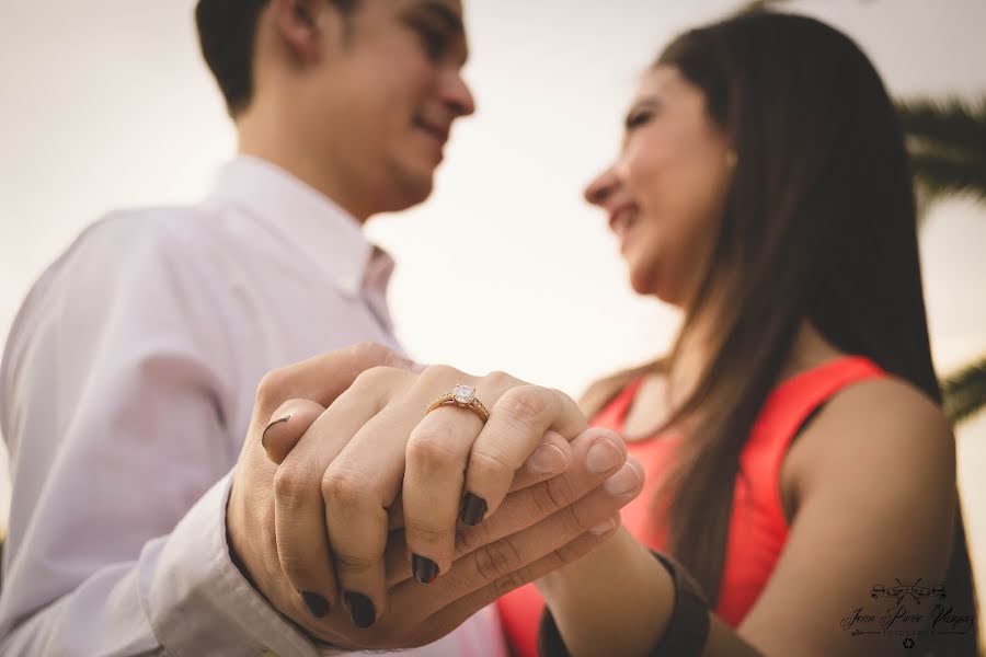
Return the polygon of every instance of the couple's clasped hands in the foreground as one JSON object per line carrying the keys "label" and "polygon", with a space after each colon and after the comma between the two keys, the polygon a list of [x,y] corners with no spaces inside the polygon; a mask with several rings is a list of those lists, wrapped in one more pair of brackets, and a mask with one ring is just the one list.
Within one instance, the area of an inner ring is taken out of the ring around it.
{"label": "couple's clasped hands in the foreground", "polygon": [[[425,413],[456,384],[489,408]],[[432,643],[619,527],[643,471],[565,394],[494,372],[413,371],[372,344],[268,373],[233,474],[230,550],[308,634]],[[465,502],[465,503],[463,503]]]}

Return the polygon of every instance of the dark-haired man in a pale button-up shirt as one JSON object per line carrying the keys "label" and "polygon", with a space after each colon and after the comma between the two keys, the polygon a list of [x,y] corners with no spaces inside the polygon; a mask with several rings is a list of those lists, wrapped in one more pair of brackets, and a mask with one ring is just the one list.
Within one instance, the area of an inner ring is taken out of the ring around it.
{"label": "dark-haired man in a pale button-up shirt", "polygon": [[[277,466],[261,443],[293,397],[321,408],[360,371],[404,365],[362,346],[265,372],[360,341],[398,349],[385,303],[392,263],[360,227],[427,197],[451,124],[473,112],[461,7],[202,0],[197,21],[240,157],[198,206],[118,212],[83,232],[10,334],[4,654],[324,649],[330,601],[275,595]],[[517,527],[572,500],[554,502],[516,514]],[[231,555],[228,535],[248,554]],[[460,579],[465,600],[475,586]],[[374,613],[348,611],[370,636]],[[368,645],[359,636],[332,635]],[[480,615],[422,655],[502,653]]]}

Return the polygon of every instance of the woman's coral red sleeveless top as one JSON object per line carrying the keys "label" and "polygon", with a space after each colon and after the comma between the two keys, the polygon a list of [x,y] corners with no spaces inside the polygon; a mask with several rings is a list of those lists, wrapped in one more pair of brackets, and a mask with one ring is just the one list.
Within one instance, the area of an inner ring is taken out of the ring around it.
{"label": "woman's coral red sleeveless top", "polygon": [[[767,584],[788,538],[780,497],[781,462],[799,429],[829,397],[864,379],[886,374],[871,360],[846,356],[786,381],[767,397],[740,456],[740,473],[726,539],[726,556],[715,614],[736,627]],[[623,420],[643,379],[638,379],[600,411],[594,427],[622,433]],[[646,472],[644,489],[623,507],[623,526],[641,543],[664,550],[667,529],[652,519],[656,482],[669,464],[675,437],[627,445]],[[518,657],[537,656],[538,621],[543,600],[534,585],[520,587],[497,602],[507,642]]]}

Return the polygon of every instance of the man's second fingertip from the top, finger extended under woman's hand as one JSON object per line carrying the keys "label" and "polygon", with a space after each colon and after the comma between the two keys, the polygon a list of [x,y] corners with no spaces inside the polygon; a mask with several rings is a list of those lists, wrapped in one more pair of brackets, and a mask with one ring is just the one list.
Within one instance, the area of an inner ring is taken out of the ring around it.
{"label": "man's second fingertip from the top, finger extended under woman's hand", "polygon": [[[623,441],[617,434],[607,429],[592,428],[583,431],[572,441],[571,449],[572,464],[564,474],[511,493],[504,498],[500,510],[481,525],[460,526],[455,537],[455,560],[539,522],[544,522],[559,511],[571,510],[575,503],[589,494],[596,494],[600,489],[606,491],[604,485],[614,475],[621,472],[627,461]],[[599,458],[600,453],[607,454],[610,451],[616,452],[617,461],[611,466],[599,470],[597,465],[604,460]],[[642,471],[640,472],[642,479]],[[627,474],[623,473],[623,476]],[[627,500],[620,498],[607,502],[604,495],[604,505],[609,505],[610,515],[626,503]],[[582,514],[582,510],[578,510],[577,514]],[[589,511],[589,515],[592,517],[588,520],[583,520],[585,517],[583,515],[577,515],[575,519],[585,525],[596,519],[595,511]],[[403,558],[403,553],[400,552],[400,546],[397,544],[397,541],[400,540],[402,540],[400,532],[393,532],[391,534],[393,544],[388,545],[387,549],[387,572],[390,586],[411,576],[406,560]],[[452,568],[455,567],[454,564]]]}

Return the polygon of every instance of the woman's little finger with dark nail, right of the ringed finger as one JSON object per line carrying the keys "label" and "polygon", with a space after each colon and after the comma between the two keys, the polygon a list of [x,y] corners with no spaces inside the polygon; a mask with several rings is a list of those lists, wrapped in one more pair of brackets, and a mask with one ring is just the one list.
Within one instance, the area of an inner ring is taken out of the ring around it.
{"label": "woman's little finger with dark nail, right of the ringed finger", "polygon": [[585,428],[585,415],[564,393],[538,385],[518,385],[504,392],[469,456],[462,522],[477,525],[496,510],[515,473],[546,431],[551,429],[572,439]]}

